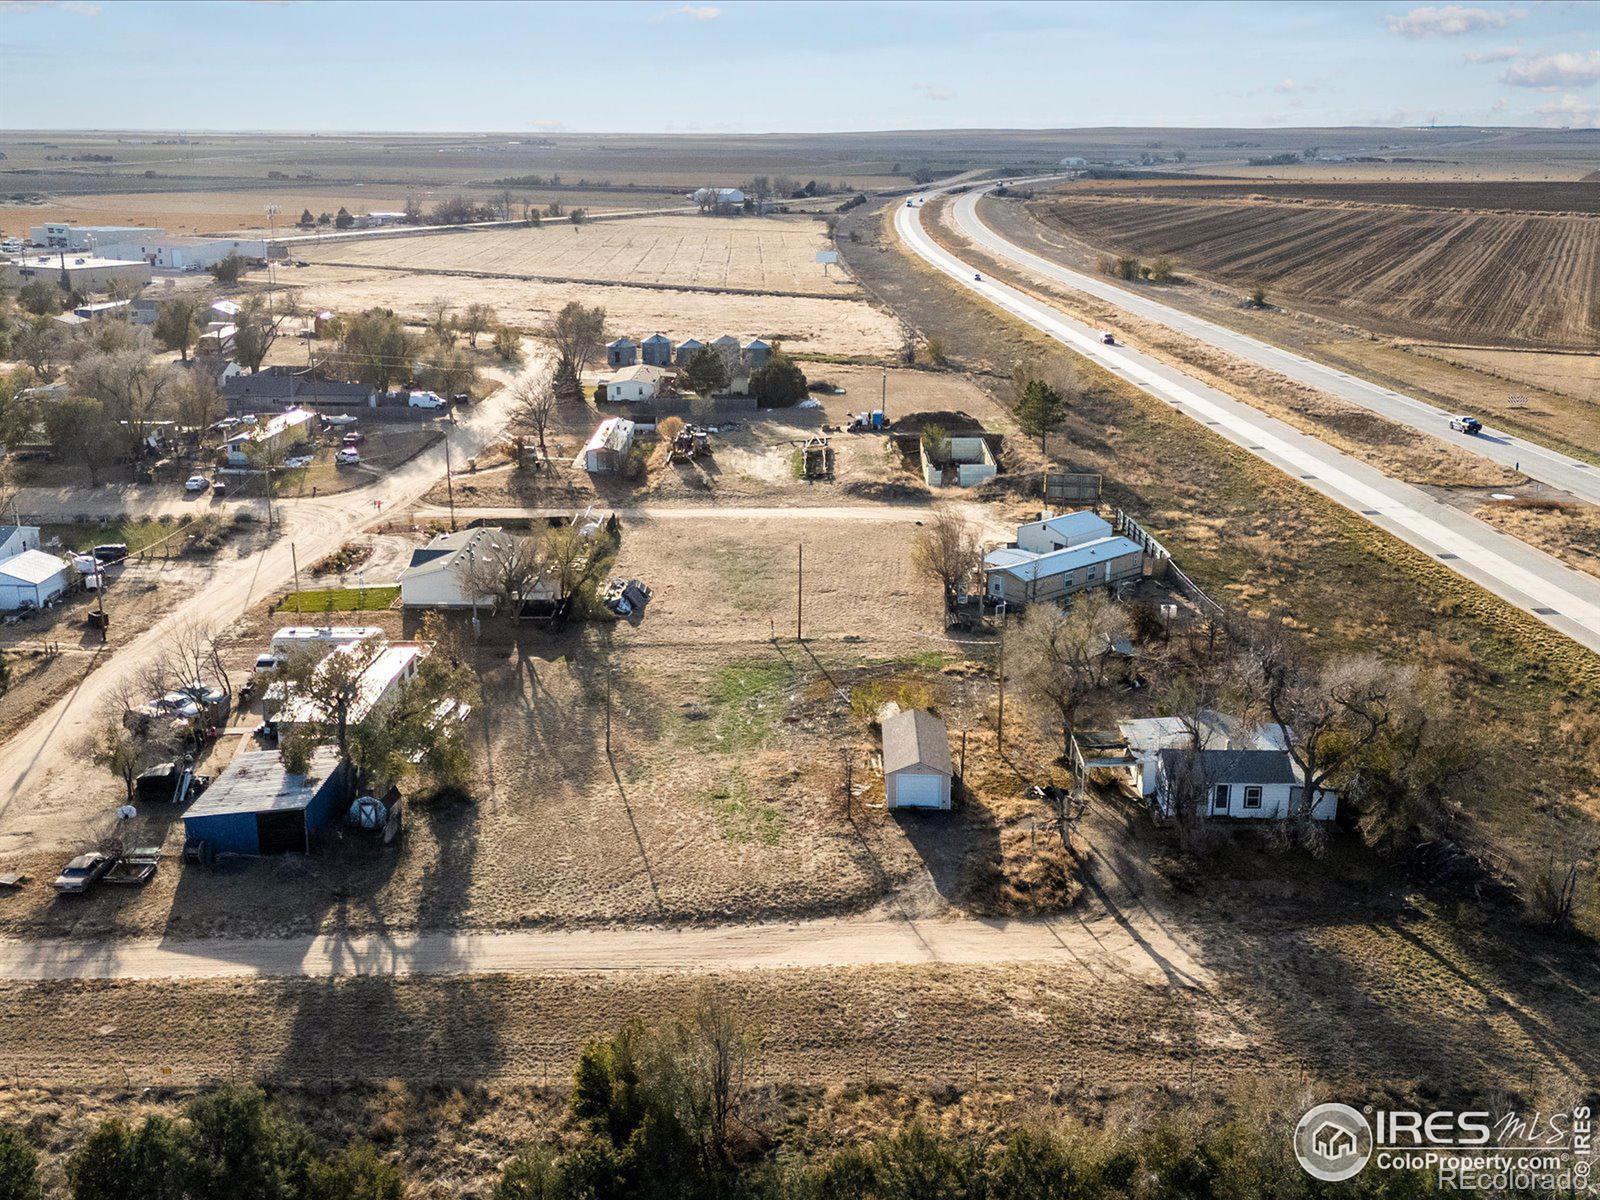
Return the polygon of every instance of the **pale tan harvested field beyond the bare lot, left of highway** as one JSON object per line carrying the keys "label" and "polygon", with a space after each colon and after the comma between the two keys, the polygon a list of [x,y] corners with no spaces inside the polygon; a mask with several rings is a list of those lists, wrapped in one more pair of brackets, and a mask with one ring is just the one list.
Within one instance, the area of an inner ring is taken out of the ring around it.
{"label": "pale tan harvested field beyond the bare lot, left of highway", "polygon": [[824,274],[816,262],[824,248],[822,226],[810,219],[685,214],[584,226],[552,219],[539,229],[304,246],[296,253],[314,262],[389,269],[854,294],[850,277],[837,267]]}

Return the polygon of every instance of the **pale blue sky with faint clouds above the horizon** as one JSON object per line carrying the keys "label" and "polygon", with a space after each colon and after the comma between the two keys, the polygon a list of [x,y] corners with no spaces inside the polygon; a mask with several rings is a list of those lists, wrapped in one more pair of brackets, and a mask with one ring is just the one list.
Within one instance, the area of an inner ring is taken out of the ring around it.
{"label": "pale blue sky with faint clouds above the horizon", "polygon": [[0,128],[1600,125],[1600,5],[0,0]]}

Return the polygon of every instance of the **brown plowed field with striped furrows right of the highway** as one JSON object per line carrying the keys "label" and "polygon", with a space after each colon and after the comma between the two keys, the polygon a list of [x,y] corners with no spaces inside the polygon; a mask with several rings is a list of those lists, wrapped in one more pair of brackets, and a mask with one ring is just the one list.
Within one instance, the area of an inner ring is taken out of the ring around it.
{"label": "brown plowed field with striped furrows right of the highway", "polygon": [[1406,338],[1600,344],[1600,218],[1086,195],[1038,205],[1096,246]]}

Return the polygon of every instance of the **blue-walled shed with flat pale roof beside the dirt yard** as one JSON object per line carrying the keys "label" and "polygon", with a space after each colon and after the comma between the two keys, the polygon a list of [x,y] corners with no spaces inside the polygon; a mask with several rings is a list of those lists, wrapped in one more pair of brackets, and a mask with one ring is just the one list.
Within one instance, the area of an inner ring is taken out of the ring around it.
{"label": "blue-walled shed with flat pale roof beside the dirt yard", "polygon": [[306,774],[290,774],[277,750],[245,750],[184,813],[184,837],[208,854],[304,854],[349,802],[350,768],[331,746]]}

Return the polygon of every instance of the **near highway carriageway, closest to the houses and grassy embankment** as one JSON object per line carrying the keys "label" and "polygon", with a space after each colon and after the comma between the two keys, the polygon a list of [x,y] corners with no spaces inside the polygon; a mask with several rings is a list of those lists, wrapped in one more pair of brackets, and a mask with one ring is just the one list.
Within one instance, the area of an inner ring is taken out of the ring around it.
{"label": "near highway carriageway, closest to the houses and grassy embankment", "polygon": [[[909,250],[963,288],[1022,320],[1134,387],[1304,482],[1450,570],[1600,653],[1600,579],[1576,571],[1483,522],[1400,483],[1358,459],[1275,421],[1214,387],[1098,331],[1018,288],[979,277],[922,227],[922,206],[902,205],[894,229]],[[1360,581],[1352,581],[1358,594]]]}

